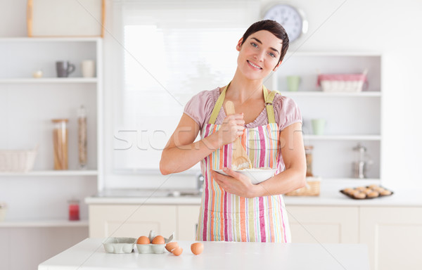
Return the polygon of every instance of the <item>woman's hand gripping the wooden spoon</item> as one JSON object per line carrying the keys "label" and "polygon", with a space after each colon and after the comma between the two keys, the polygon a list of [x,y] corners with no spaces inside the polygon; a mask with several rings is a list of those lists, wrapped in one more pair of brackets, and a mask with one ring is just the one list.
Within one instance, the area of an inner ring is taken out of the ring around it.
{"label": "woman's hand gripping the wooden spoon", "polygon": [[241,136],[243,134],[243,129],[245,129],[245,127],[243,127],[244,124],[245,120],[243,120],[243,113],[227,116],[222,123],[222,127],[217,131],[222,146],[233,143],[238,136]]}

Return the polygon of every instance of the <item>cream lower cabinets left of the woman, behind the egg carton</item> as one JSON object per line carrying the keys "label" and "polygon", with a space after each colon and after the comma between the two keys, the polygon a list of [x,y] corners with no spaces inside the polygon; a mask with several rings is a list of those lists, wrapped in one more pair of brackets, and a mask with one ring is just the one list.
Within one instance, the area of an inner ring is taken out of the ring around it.
{"label": "cream lower cabinets left of the woman, behind the egg carton", "polygon": [[138,238],[153,230],[195,240],[199,205],[89,205],[89,237]]}

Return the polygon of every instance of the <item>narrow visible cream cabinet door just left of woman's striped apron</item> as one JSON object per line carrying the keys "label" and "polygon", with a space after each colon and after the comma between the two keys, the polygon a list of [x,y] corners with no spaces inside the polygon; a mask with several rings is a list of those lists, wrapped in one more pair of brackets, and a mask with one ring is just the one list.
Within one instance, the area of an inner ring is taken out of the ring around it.
{"label": "narrow visible cream cabinet door just left of woman's striped apron", "polygon": [[198,228],[199,205],[179,205],[178,240],[195,240]]}

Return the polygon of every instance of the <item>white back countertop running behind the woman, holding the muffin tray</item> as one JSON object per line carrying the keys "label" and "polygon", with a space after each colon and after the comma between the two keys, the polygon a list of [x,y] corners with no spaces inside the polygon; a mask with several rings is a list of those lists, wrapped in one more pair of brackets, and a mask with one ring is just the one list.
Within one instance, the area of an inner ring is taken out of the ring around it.
{"label": "white back countertop running behind the woman, holding the muffin tray", "polygon": [[[355,185],[358,186],[358,185]],[[340,193],[341,188],[321,188],[319,196],[283,196],[286,205],[313,205],[313,206],[376,206],[376,207],[421,207],[421,191],[398,190],[390,196],[374,198],[370,200],[353,200]],[[146,194],[152,194],[154,191],[145,191]],[[148,196],[135,197],[126,196],[122,193],[106,196],[92,196],[85,198],[85,203],[95,204],[130,204],[130,205],[200,205],[199,196]]]}

